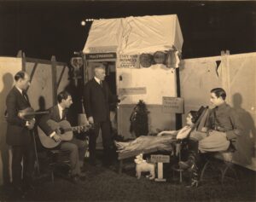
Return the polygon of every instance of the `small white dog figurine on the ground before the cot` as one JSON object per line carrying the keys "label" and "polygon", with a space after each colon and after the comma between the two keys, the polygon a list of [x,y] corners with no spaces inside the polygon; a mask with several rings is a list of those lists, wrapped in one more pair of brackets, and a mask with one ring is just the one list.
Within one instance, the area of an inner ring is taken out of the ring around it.
{"label": "small white dog figurine on the ground before the cot", "polygon": [[137,155],[136,159],[134,159],[136,163],[136,176],[137,179],[141,178],[142,172],[150,172],[150,175],[147,176],[150,180],[154,179],[154,164],[148,164],[146,160],[143,159],[143,153]]}

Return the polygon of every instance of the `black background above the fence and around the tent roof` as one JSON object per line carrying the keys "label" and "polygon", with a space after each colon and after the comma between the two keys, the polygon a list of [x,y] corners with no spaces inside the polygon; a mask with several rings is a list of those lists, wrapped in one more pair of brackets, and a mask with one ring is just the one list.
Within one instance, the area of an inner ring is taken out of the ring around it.
{"label": "black background above the fence and around the tent roof", "polygon": [[81,20],[153,14],[177,14],[184,59],[256,51],[256,2],[0,1],[0,55],[22,49],[28,57],[68,62],[84,48],[90,26]]}

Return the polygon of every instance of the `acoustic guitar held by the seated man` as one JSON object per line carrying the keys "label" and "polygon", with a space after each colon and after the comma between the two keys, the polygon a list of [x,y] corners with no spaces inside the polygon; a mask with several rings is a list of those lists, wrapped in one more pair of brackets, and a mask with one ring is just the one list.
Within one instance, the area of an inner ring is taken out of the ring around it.
{"label": "acoustic guitar held by the seated man", "polygon": [[[73,131],[87,131],[92,128],[92,125],[81,125],[72,127],[67,120],[55,122],[54,120],[49,119],[47,121],[47,124],[52,130],[61,131],[61,134],[58,134],[59,136],[61,136],[61,141],[71,141],[73,139]],[[38,136],[42,145],[46,148],[54,148],[61,143],[61,141],[55,141],[51,137],[47,136],[40,127],[38,127]]]}

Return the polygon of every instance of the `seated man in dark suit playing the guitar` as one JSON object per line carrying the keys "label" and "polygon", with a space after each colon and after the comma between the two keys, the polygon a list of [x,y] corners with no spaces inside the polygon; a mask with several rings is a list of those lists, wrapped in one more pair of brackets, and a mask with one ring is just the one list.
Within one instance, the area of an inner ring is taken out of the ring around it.
{"label": "seated man in dark suit playing the guitar", "polygon": [[[45,134],[55,141],[61,141],[61,131],[53,130],[47,124],[49,119],[55,122],[67,119],[67,109],[72,105],[72,97],[67,91],[62,91],[57,95],[58,104],[49,109],[49,114],[45,115],[39,121],[39,126],[44,130]],[[70,153],[69,159],[71,162],[71,179],[77,183],[80,179],[84,180],[84,174],[81,168],[84,164],[84,154],[86,150],[86,142],[73,138],[71,141],[61,141],[59,145],[61,151],[68,151]]]}

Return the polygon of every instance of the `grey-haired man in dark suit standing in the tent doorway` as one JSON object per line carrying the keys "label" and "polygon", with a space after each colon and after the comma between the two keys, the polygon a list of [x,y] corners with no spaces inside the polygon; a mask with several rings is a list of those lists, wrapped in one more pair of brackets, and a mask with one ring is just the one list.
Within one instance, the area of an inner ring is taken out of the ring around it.
{"label": "grey-haired man in dark suit standing in the tent doorway", "polygon": [[94,69],[95,77],[87,82],[84,86],[84,108],[90,124],[94,124],[94,131],[90,133],[89,151],[90,163],[96,164],[96,139],[99,130],[102,130],[102,141],[104,147],[103,164],[110,165],[113,160],[113,136],[111,134],[111,123],[109,114],[110,103],[119,102],[125,99],[118,99],[113,95],[104,81],[106,77],[105,66],[96,66]]}

